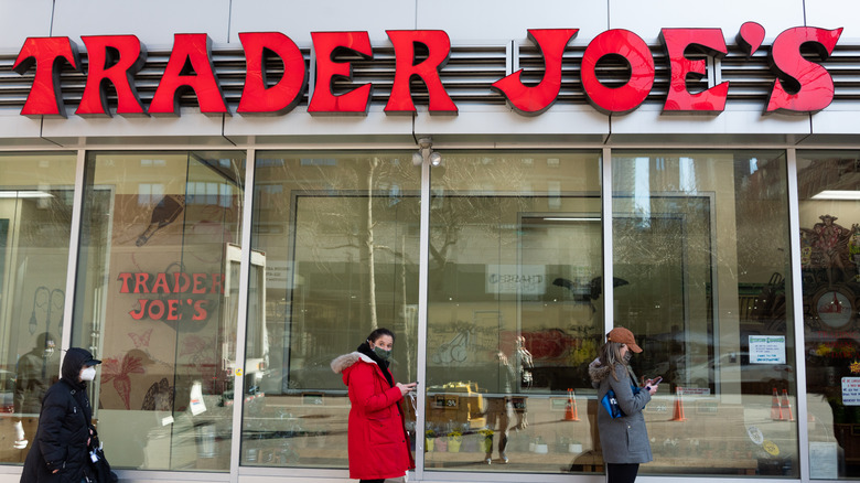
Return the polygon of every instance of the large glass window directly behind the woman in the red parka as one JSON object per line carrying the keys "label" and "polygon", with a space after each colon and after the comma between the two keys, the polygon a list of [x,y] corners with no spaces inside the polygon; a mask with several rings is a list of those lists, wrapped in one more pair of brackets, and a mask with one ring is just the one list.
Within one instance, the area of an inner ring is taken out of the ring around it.
{"label": "large glass window directly behind the woman in the red parka", "polygon": [[350,399],[331,362],[374,329],[395,333],[395,379],[416,379],[411,154],[258,151],[240,464],[347,466]]}

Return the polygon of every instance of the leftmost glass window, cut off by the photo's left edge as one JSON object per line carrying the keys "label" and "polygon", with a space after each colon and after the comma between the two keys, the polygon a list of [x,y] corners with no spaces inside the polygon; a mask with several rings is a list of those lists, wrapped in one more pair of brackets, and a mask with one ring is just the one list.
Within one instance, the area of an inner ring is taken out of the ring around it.
{"label": "leftmost glass window, cut off by the photo's left edge", "polygon": [[0,461],[23,463],[60,377],[74,153],[0,155]]}

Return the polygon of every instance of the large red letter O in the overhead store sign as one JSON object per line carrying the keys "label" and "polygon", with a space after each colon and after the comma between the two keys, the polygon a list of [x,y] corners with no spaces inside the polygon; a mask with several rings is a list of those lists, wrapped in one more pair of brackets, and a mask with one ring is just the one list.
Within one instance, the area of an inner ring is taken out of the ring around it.
{"label": "large red letter O in the overhead store sign", "polygon": [[[621,55],[631,66],[627,84],[606,87],[594,72],[598,62],[606,55]],[[654,85],[654,57],[648,44],[635,33],[614,29],[595,36],[585,47],[580,71],[585,96],[595,109],[603,114],[626,114],[648,97]]]}

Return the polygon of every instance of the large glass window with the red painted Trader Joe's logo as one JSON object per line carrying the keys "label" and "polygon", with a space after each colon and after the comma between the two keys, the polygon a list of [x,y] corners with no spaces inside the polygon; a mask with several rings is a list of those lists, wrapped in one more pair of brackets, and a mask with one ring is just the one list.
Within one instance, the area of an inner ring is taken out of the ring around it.
{"label": "large glass window with the red painted Trader Joe's logo", "polygon": [[244,152],[87,155],[73,345],[118,468],[226,471]]}

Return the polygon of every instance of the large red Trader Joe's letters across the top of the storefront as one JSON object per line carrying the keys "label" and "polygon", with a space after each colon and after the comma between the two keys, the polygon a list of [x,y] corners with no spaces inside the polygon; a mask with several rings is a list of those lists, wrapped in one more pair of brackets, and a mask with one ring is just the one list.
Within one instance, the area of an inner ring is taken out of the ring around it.
{"label": "large red Trader Joe's letters across the top of the storefront", "polygon": [[[524,116],[537,116],[549,109],[561,88],[563,53],[577,36],[578,29],[530,29],[528,37],[540,50],[545,73],[535,86],[523,84],[523,71],[517,71],[492,84],[508,105]],[[428,111],[431,115],[456,115],[458,107],[448,95],[440,72],[451,54],[451,41],[441,30],[386,31],[395,50],[395,79],[387,115],[411,115],[417,111],[411,83],[420,79],[427,86]],[[827,68],[805,58],[800,47],[810,45],[827,60],[842,29],[826,30],[796,26],[781,32],[768,50],[768,64],[774,84],[764,114],[817,112],[834,99],[834,80]],[[352,79],[352,63],[343,60],[348,51],[373,60],[373,46],[367,32],[312,32],[315,85],[308,112],[311,115],[366,116],[373,83],[358,85],[342,94],[332,92],[335,78]],[[721,29],[663,29],[660,43],[666,51],[670,72],[669,89],[663,106],[665,114],[719,115],[725,109],[730,82],[722,82],[700,93],[690,93],[687,80],[707,75],[706,61],[688,58],[697,51],[720,58],[728,53]],[[737,42],[749,56],[761,49],[764,28],[746,22]],[[86,85],[75,111],[78,116],[111,116],[107,89],[117,95],[115,114],[120,116],[179,116],[179,99],[193,92],[200,110],[206,115],[232,114],[224,99],[212,64],[212,41],[205,33],[179,33],[158,87],[148,107],[143,107],[135,86],[135,76],[147,60],[146,46],[135,35],[86,35],[88,63]],[[284,115],[301,100],[308,87],[309,67],[295,43],[280,32],[246,32],[239,34],[245,52],[245,86],[236,111],[240,115]],[[277,56],[283,74],[273,85],[267,82],[267,55]],[[596,76],[598,64],[606,56],[623,57],[630,65],[630,78],[621,86],[606,86]],[[62,116],[65,106],[60,72],[68,65],[82,72],[77,45],[69,37],[29,37],[24,41],[13,69],[26,73],[35,66],[33,85],[21,114],[24,116]],[[649,46],[634,32],[613,29],[600,33],[585,47],[580,76],[584,94],[592,106],[603,114],[626,114],[642,105],[655,79],[654,57]]]}

